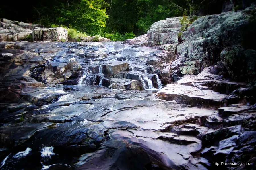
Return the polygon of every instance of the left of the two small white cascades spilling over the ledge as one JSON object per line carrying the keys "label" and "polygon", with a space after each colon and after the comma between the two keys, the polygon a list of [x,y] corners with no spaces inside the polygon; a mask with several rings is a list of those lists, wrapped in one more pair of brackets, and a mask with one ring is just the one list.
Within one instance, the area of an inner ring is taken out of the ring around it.
{"label": "left of the two small white cascades spilling over the ledge", "polygon": [[78,85],[86,85],[86,86],[102,86],[102,79],[104,78],[104,74],[102,74],[102,65],[99,66],[99,74],[92,74],[90,69],[84,69],[83,75],[80,77]]}

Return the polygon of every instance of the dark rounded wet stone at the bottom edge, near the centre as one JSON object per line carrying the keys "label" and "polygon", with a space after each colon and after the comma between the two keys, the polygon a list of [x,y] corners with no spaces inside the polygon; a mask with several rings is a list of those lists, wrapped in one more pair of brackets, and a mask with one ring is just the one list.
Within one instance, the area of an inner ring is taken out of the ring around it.
{"label": "dark rounded wet stone at the bottom edge, near the centre", "polygon": [[143,148],[120,140],[110,140],[102,143],[100,150],[81,162],[76,169],[141,170],[150,167],[150,163]]}

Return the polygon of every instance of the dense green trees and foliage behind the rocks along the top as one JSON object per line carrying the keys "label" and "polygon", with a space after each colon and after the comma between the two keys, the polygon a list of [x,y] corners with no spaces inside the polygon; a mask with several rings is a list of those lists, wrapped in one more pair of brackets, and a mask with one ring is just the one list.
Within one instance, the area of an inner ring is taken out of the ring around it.
{"label": "dense green trees and foliage behind the rocks along the top", "polygon": [[76,34],[74,36],[86,33],[116,41],[145,34],[152,23],[168,17],[183,16],[184,13],[220,13],[223,2],[224,0],[5,1],[0,6],[0,18],[38,23],[46,27],[52,24],[63,25],[72,29],[69,31],[73,31]]}

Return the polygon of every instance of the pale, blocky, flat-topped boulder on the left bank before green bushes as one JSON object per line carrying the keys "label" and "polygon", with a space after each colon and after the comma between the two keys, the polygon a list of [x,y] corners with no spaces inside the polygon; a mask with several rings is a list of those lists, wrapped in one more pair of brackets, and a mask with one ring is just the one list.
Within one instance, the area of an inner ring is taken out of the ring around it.
{"label": "pale, blocky, flat-topped boulder on the left bank before green bushes", "polygon": [[63,41],[68,40],[67,29],[62,27],[35,29],[32,33],[33,41]]}

